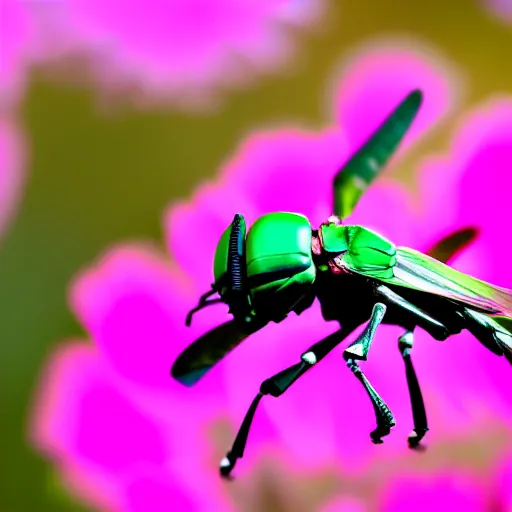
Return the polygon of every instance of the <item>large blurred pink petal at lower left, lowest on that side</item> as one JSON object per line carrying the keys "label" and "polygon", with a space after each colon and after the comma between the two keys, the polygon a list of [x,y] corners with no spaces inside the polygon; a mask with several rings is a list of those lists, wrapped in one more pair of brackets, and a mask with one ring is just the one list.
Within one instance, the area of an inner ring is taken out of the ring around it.
{"label": "large blurred pink petal at lower left, lowest on that side", "polygon": [[[133,397],[91,346],[70,343],[55,352],[36,398],[32,440],[85,502],[108,510],[138,510],[144,502],[152,503],[152,493],[163,499],[171,492],[188,506],[204,501],[198,481],[210,503],[224,500],[216,471],[205,466],[209,448],[195,415],[184,408],[173,410],[176,398],[170,396],[173,419],[160,422],[158,411],[140,407],[140,391]],[[129,505],[120,507],[127,482]]]}

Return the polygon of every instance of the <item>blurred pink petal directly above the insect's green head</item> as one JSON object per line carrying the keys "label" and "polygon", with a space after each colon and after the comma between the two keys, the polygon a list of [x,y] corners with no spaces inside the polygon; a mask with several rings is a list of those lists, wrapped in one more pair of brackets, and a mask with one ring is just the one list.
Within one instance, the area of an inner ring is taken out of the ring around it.
{"label": "blurred pink petal directly above the insect's green head", "polygon": [[226,164],[223,179],[250,198],[259,215],[290,211],[311,222],[330,207],[332,178],[347,157],[343,134],[281,129],[251,135]]}

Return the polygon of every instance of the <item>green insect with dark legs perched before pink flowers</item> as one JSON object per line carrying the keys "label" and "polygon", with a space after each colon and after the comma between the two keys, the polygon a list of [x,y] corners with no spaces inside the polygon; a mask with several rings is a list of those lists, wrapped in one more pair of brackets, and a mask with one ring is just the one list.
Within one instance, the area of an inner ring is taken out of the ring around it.
{"label": "green insect with dark legs perched before pink flowers", "polygon": [[[325,320],[340,329],[315,343],[300,362],[265,380],[252,402],[231,450],[221,462],[229,475],[244,454],[250,425],[264,395],[282,395],[298,378],[318,364],[355,329],[361,334],[343,352],[346,364],[366,389],[376,413],[374,443],[395,425],[393,414],[361,371],[380,323],[398,325],[403,335],[398,348],[405,363],[415,448],[428,431],[418,379],[411,362],[414,330],[422,328],[436,340],[463,329],[512,363],[512,334],[504,319],[512,318],[512,290],[480,281],[449,267],[446,262],[476,235],[468,228],[454,233],[429,255],[391,241],[365,228],[345,224],[358,200],[378,176],[413,123],[422,102],[411,92],[384,120],[370,139],[334,178],[334,216],[314,229],[296,213],[277,212],[260,217],[246,234],[242,215],[235,215],[218,244],[215,282],[187,317],[215,303],[225,303],[233,320],[203,335],[184,350],[172,367],[172,376],[187,386],[195,384],[228,352],[269,322],[300,314],[315,299]],[[218,298],[212,298],[218,294]]]}

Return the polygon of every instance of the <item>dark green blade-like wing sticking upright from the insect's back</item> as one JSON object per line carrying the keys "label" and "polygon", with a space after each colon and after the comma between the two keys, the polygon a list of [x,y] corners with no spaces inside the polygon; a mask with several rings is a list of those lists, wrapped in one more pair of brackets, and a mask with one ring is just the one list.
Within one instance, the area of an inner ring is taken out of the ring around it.
{"label": "dark green blade-like wing sticking upright from the insect's back", "polygon": [[422,103],[420,90],[412,91],[384,120],[370,139],[346,162],[334,178],[334,214],[342,219],[379,175],[413,123]]}

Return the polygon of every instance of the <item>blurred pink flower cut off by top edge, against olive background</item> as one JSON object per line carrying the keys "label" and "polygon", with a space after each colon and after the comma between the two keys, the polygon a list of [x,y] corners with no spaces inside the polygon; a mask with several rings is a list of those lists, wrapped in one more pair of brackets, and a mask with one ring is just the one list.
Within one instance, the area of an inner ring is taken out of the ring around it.
{"label": "blurred pink flower cut off by top edge, against olive background", "polygon": [[64,0],[36,6],[54,51],[86,56],[106,88],[177,105],[212,99],[282,65],[288,29],[312,24],[322,0]]}

